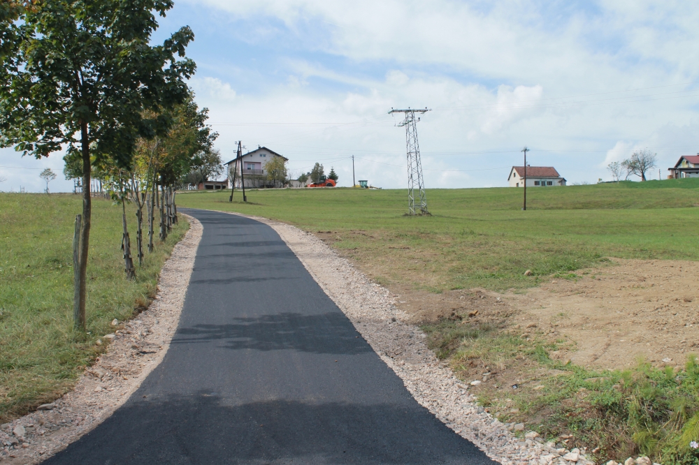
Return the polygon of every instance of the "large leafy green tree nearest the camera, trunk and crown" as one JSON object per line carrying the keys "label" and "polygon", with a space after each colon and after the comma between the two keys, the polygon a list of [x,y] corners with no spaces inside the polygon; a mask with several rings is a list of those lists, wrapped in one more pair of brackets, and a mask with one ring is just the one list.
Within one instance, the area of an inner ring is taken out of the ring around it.
{"label": "large leafy green tree nearest the camera, trunk and crown", "polygon": [[[172,0],[4,1],[0,5],[0,146],[49,156],[63,147],[82,161],[82,228],[75,322],[85,328],[92,218],[92,165],[109,157],[128,168],[138,136],[164,133],[168,119],[144,110],[187,97],[194,38],[182,27],[150,45]],[[180,57],[180,59],[178,59]]]}

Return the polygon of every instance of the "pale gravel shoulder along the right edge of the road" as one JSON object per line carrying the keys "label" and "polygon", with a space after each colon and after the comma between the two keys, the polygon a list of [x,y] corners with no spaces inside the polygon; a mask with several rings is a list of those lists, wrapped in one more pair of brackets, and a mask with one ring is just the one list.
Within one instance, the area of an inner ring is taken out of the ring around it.
{"label": "pale gravel shoulder along the right edge of the road", "polygon": [[286,223],[247,217],[278,232],[419,404],[491,459],[506,465],[592,463],[586,459],[585,450],[555,449],[536,433],[526,434],[526,438],[514,436],[506,425],[477,405],[468,386],[427,348],[426,335],[412,324],[412,316],[396,307],[397,296],[371,282],[322,240]]}

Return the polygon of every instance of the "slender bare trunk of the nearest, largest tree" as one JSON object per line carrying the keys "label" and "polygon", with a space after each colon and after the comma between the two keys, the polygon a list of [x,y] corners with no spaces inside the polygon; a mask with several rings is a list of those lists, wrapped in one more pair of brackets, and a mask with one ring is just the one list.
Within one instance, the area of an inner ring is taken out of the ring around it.
{"label": "slender bare trunk of the nearest, largest tree", "polygon": [[75,326],[85,330],[85,299],[87,298],[87,251],[89,250],[89,229],[92,226],[92,197],[90,193],[92,165],[89,160],[89,133],[87,122],[80,123],[80,148],[82,154],[82,227],[80,228],[80,283],[78,293],[78,320]]}

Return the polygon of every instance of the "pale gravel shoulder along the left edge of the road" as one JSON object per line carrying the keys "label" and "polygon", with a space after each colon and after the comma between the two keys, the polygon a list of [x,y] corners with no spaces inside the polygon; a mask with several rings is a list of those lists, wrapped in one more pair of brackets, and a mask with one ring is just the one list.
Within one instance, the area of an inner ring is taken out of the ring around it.
{"label": "pale gravel shoulder along the left edge of the road", "polygon": [[64,449],[124,404],[163,360],[175,334],[199,246],[201,223],[192,216],[173,248],[146,311],[101,338],[109,348],[61,399],[0,425],[0,462],[36,464]]}

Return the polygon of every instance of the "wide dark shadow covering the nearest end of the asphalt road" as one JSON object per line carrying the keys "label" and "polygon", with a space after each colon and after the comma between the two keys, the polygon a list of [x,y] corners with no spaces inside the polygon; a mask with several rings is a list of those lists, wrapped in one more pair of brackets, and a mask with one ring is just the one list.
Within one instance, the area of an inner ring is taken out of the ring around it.
{"label": "wide dark shadow covering the nearest end of the asphalt road", "polygon": [[[46,464],[495,464],[424,408],[216,393],[129,403]],[[95,436],[95,437],[93,437]],[[109,438],[95,443],[96,437]]]}

